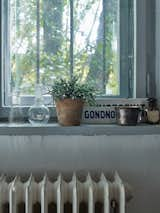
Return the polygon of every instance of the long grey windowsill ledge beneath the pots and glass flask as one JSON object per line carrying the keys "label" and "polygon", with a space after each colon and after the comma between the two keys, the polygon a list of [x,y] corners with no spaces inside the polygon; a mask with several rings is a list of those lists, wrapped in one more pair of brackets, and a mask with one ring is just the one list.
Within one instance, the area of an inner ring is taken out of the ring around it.
{"label": "long grey windowsill ledge beneath the pots and glass flask", "polygon": [[159,135],[160,125],[119,126],[82,124],[81,126],[62,127],[57,123],[45,126],[31,124],[0,124],[0,135]]}

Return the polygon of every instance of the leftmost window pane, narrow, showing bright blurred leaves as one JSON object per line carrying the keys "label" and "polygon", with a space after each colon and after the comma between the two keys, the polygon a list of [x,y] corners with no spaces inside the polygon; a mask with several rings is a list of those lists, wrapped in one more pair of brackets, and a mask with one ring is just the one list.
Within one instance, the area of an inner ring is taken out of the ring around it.
{"label": "leftmost window pane, narrow, showing bright blurred leaves", "polygon": [[12,88],[32,94],[36,78],[36,3],[10,0]]}

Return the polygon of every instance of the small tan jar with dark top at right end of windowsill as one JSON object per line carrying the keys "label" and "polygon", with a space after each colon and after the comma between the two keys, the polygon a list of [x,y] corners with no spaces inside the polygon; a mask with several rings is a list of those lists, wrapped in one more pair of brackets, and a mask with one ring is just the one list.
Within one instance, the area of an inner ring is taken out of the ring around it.
{"label": "small tan jar with dark top at right end of windowsill", "polygon": [[147,122],[149,124],[158,124],[160,121],[160,111],[157,106],[156,98],[148,98]]}

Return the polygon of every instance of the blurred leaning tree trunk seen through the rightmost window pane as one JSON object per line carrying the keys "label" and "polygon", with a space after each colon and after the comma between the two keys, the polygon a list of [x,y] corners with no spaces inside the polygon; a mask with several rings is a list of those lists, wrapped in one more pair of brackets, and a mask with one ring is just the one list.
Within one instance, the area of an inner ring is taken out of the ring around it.
{"label": "blurred leaning tree trunk seen through the rightmost window pane", "polygon": [[[112,49],[113,23],[117,23],[117,0],[103,1],[103,11],[100,15],[96,48],[91,56],[88,80],[94,82],[97,91],[106,94],[106,85],[110,73],[114,69],[115,52]],[[115,74],[116,75],[116,74]]]}

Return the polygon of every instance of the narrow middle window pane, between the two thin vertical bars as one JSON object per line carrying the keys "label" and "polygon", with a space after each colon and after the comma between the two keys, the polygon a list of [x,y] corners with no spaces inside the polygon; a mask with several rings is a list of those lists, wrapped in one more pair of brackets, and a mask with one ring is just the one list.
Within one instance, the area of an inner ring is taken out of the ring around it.
{"label": "narrow middle window pane, between the two thin vertical bars", "polygon": [[70,74],[70,3],[69,0],[43,0],[41,81]]}

